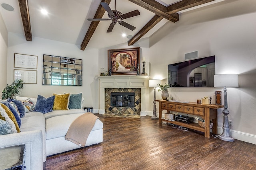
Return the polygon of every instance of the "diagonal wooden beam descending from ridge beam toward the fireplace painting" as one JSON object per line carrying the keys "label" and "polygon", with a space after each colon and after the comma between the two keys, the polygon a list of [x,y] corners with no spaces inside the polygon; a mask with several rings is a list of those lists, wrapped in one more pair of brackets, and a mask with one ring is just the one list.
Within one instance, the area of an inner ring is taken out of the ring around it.
{"label": "diagonal wooden beam descending from ridge beam toward the fireplace painting", "polygon": [[143,35],[145,35],[151,28],[153,28],[158,22],[160,22],[163,18],[155,15],[146,25],[138,31],[129,41],[128,45],[134,45]]}

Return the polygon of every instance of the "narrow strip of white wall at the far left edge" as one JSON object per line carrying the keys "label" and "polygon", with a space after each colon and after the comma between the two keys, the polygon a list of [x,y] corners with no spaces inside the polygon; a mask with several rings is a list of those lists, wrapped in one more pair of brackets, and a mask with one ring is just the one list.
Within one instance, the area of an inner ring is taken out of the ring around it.
{"label": "narrow strip of white wall at the far left edge", "polygon": [[0,13],[0,98],[2,98],[2,90],[6,87],[7,83],[7,44],[8,32]]}

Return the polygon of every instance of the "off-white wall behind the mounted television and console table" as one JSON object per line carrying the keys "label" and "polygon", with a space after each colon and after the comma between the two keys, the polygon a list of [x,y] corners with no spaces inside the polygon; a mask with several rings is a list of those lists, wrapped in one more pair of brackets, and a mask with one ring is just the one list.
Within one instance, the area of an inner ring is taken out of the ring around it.
{"label": "off-white wall behind the mounted television and console table", "polygon": [[[235,139],[243,141],[247,139],[236,135],[247,134],[253,137],[253,142],[250,142],[256,144],[256,3],[228,3],[184,14],[180,16],[180,21],[168,22],[152,35],[149,56],[150,78],[161,78],[162,83],[167,83],[167,65],[184,61],[185,53],[198,51],[199,57],[215,55],[216,74],[239,74],[239,88],[228,88],[227,91],[229,119],[233,121],[231,133]],[[226,14],[229,8],[237,8],[238,14]],[[241,14],[240,9],[247,8],[249,12]],[[171,88],[169,94],[176,100],[196,102],[204,96],[215,97],[215,90],[222,89]],[[156,98],[161,98],[160,92],[157,92]],[[151,106],[147,109],[151,110]],[[219,109],[220,130],[222,123],[223,114]]]}

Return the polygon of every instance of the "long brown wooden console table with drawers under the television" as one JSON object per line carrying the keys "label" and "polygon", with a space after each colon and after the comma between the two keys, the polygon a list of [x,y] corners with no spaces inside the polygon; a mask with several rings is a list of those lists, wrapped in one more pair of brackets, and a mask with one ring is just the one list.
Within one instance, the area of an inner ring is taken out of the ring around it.
{"label": "long brown wooden console table with drawers under the television", "polygon": [[[204,137],[210,138],[210,120],[213,121],[212,133],[218,134],[217,129],[217,109],[224,107],[223,105],[214,105],[214,104],[197,104],[195,102],[169,102],[166,100],[156,100],[159,102],[159,123],[162,124],[162,121],[167,121],[169,123],[183,126],[189,129],[194,129],[196,131],[204,132]],[[162,111],[166,110],[167,113],[170,111],[177,111],[180,113],[186,113],[191,115],[200,116],[205,121],[205,127],[200,127],[198,123],[183,123],[180,121],[170,121],[162,117]]]}

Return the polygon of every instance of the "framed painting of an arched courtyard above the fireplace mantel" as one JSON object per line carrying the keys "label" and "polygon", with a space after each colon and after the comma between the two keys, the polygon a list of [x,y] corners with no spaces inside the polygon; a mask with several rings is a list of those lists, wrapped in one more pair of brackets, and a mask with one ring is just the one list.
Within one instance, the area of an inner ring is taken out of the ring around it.
{"label": "framed painting of an arched courtyard above the fireplace mantel", "polygon": [[140,66],[140,47],[108,50],[108,71],[112,75],[137,74]]}

